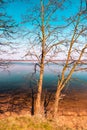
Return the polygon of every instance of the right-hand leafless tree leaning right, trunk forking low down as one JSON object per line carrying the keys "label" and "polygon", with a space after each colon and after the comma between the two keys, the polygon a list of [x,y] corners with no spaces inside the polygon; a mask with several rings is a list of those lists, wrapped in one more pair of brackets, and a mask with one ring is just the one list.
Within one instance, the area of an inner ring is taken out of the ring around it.
{"label": "right-hand leafless tree leaning right, trunk forking low down", "polygon": [[[87,42],[86,42],[87,25],[85,24],[86,21],[87,21],[87,9],[86,6],[84,9],[82,8],[82,1],[81,1],[80,10],[75,15],[74,21],[72,22],[73,30],[71,33],[70,41],[68,41],[69,46],[67,50],[66,62],[62,69],[60,79],[58,79],[57,90],[55,94],[55,102],[54,102],[54,117],[56,117],[58,113],[61,91],[64,89],[64,87],[71,79],[71,76],[74,73],[74,71],[81,70],[81,68],[77,69],[77,66],[79,65],[79,63],[82,63],[83,56],[86,57],[87,54]],[[76,60],[75,55],[73,59],[72,56],[73,53],[76,53]],[[66,75],[68,68],[69,68],[68,74]],[[83,68],[83,70],[85,69],[87,69],[87,67]]]}

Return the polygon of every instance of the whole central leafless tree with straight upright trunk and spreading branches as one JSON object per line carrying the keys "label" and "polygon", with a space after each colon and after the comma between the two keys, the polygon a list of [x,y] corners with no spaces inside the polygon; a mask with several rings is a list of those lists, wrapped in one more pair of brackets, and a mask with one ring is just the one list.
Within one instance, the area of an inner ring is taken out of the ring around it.
{"label": "whole central leafless tree with straight upright trunk and spreading branches", "polygon": [[[34,60],[38,61],[36,66],[40,68],[39,80],[37,82],[37,97],[35,103],[35,114],[41,114],[41,95],[43,85],[44,67],[48,62],[52,62],[52,59],[58,55],[61,50],[59,45],[65,42],[65,38],[62,33],[66,27],[70,25],[70,22],[66,20],[60,25],[58,23],[57,11],[65,9],[65,0],[40,0],[39,6],[35,5],[34,9],[23,17],[23,24],[31,21],[31,30],[26,32],[24,36],[29,39],[30,46],[26,56],[32,56]],[[30,35],[30,37],[27,36]],[[60,37],[60,39],[59,39]]]}

